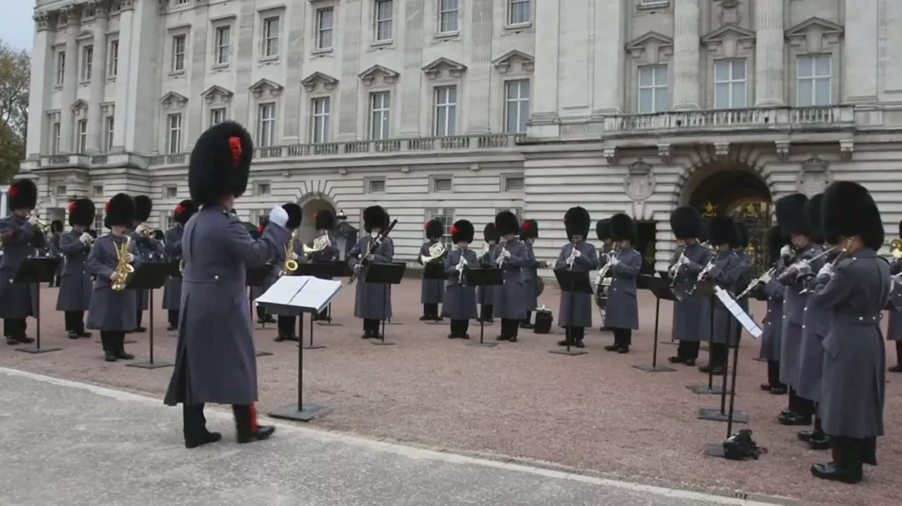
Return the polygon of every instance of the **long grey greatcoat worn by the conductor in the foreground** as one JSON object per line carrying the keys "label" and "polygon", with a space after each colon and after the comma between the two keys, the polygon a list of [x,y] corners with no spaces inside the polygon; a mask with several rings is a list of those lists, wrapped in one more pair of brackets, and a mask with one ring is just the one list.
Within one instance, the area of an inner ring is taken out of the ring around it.
{"label": "long grey greatcoat worn by the conductor in the foreground", "polygon": [[271,223],[253,240],[241,220],[206,205],[182,236],[179,345],[165,402],[251,404],[257,400],[257,357],[245,270],[284,251],[289,231]]}

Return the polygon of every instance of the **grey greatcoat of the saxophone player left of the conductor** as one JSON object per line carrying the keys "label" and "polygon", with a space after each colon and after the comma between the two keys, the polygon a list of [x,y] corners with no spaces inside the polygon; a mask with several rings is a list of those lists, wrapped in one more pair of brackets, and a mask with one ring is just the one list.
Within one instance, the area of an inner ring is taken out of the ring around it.
{"label": "grey greatcoat of the saxophone player left of the conductor", "polygon": [[[87,310],[88,329],[124,332],[133,330],[138,325],[138,291],[115,292],[110,282],[110,275],[119,263],[116,245],[124,240],[124,236],[106,234],[94,241],[94,246],[87,255],[87,272],[94,277],[91,307]],[[129,245],[129,251],[134,255],[132,265],[137,270],[141,266],[142,258],[138,256],[134,240]]]}

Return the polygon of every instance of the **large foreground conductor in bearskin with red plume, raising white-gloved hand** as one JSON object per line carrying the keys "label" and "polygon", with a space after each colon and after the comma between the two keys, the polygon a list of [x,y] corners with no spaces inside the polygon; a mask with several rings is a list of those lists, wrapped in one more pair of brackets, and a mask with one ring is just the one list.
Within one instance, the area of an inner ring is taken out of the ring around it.
{"label": "large foreground conductor in bearskin with red plume, raising white-gloved hand", "polygon": [[228,212],[244,194],[253,142],[244,127],[223,122],[205,131],[189,162],[189,192],[200,210],[182,235],[184,275],[179,307],[179,344],[166,404],[183,405],[185,447],[219,440],[207,430],[204,405],[232,404],[239,443],[269,438],[272,426],[257,424],[257,358],[245,292],[247,267],[261,267],[285,250],[300,213],[282,206],[254,240]]}

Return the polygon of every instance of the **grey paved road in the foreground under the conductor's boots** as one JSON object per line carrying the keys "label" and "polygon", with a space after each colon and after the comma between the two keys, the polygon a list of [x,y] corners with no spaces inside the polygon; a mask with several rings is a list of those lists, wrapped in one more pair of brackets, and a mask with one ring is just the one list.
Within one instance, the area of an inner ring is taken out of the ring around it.
{"label": "grey paved road in the foreground under the conductor's boots", "polygon": [[182,446],[158,399],[0,367],[0,506],[761,504],[505,465],[280,424],[239,446]]}

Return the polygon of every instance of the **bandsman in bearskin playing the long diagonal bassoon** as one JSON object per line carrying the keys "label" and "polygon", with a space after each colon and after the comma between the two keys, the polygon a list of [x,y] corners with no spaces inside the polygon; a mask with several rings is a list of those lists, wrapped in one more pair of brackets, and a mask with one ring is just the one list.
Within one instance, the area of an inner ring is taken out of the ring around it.
{"label": "bandsman in bearskin playing the long diagonal bassoon", "polygon": [[364,230],[367,235],[357,239],[357,244],[348,252],[348,267],[352,270],[357,262],[363,262],[357,276],[354,290],[354,317],[364,321],[363,339],[380,339],[380,323],[391,318],[391,285],[367,283],[369,264],[391,264],[394,258],[394,243],[390,237],[382,238],[382,243],[373,253],[370,242],[379,237],[389,225],[389,213],[380,205],[364,209]]}

